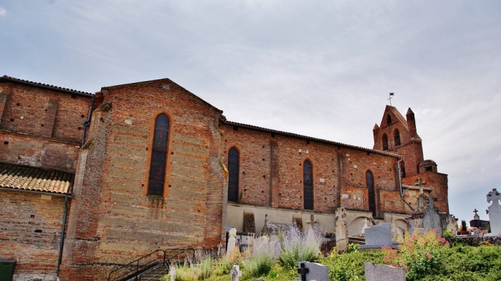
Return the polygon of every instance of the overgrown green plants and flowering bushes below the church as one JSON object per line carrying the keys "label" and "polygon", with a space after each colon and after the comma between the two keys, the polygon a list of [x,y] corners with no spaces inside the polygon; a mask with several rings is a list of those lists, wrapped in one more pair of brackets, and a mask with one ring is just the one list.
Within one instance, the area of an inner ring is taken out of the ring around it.
{"label": "overgrown green plants and flowering bushes below the church", "polygon": [[[312,235],[312,236],[308,236]],[[407,280],[501,280],[501,247],[484,243],[478,247],[450,246],[440,234],[406,234],[398,250],[358,251],[349,245],[349,252],[318,256],[321,236],[314,232],[288,232],[280,239],[255,239],[252,251],[235,254],[232,258],[213,258],[199,254],[198,265],[180,266],[176,281],[229,280],[231,267],[240,265],[242,281],[296,280],[297,261],[301,258],[329,266],[329,280],[365,280],[364,262],[404,267]],[[296,259],[297,258],[297,259]],[[165,276],[165,280],[170,280]]]}

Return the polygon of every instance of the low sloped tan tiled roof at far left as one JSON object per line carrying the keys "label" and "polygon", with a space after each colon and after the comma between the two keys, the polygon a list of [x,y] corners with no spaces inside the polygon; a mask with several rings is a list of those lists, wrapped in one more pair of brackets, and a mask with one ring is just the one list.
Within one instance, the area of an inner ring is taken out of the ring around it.
{"label": "low sloped tan tiled roof at far left", "polygon": [[73,173],[0,163],[0,187],[71,195]]}

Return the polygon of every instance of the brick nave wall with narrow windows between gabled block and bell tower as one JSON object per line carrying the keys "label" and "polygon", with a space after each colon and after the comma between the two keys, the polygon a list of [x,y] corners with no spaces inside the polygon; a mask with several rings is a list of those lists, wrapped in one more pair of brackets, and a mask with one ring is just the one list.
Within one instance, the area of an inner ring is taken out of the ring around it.
{"label": "brick nave wall with narrow windows between gabled block and bell tower", "polygon": [[[270,206],[276,201],[279,208],[302,210],[305,160],[310,160],[313,166],[314,211],[317,212],[334,213],[339,206],[369,210],[365,179],[368,170],[374,175],[377,190],[398,190],[396,157],[293,136],[272,136],[269,132],[232,124],[220,125],[220,130],[225,164],[228,164],[227,152],[231,147],[240,151],[242,204]],[[341,193],[351,196],[342,199]],[[407,211],[399,207],[392,210]]]}

